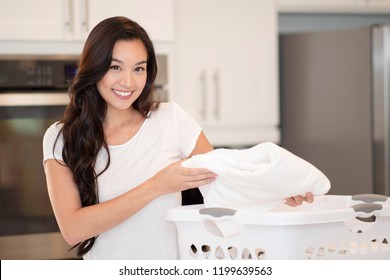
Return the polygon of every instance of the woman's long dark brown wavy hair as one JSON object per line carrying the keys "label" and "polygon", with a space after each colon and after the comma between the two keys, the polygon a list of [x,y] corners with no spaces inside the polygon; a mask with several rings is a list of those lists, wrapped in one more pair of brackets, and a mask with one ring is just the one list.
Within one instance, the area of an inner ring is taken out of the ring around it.
{"label": "woman's long dark brown wavy hair", "polygon": [[[156,56],[145,30],[125,17],[112,17],[100,22],[85,43],[77,74],[69,87],[70,102],[60,121],[63,126],[58,135],[63,137],[63,161],[72,171],[83,207],[99,202],[97,177],[110,165],[110,153],[102,125],[107,107],[96,83],[109,70],[112,50],[118,40],[141,40],[148,55],[146,84],[132,106],[147,118],[159,105],[153,88],[157,75]],[[108,161],[104,170],[97,174],[95,163],[102,148],[108,154]],[[76,244],[73,248],[77,247],[78,256],[87,253],[96,238],[97,236]]]}

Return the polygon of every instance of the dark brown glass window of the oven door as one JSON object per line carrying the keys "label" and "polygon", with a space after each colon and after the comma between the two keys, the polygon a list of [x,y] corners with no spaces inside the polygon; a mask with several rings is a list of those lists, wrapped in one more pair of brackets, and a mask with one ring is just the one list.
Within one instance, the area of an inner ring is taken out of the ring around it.
{"label": "dark brown glass window of the oven door", "polygon": [[0,235],[58,231],[43,170],[42,139],[65,105],[0,107]]}

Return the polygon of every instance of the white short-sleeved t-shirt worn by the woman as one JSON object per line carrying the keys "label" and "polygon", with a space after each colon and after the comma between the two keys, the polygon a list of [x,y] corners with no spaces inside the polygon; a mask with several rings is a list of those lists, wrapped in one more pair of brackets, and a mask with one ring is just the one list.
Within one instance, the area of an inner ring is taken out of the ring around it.
{"label": "white short-sleeved t-shirt worn by the woman", "polygon": [[[59,125],[53,124],[43,140],[44,161],[62,159]],[[110,167],[98,177],[99,201],[110,200],[152,177],[172,162],[186,158],[201,132],[199,124],[176,103],[162,103],[127,143],[109,146]],[[107,153],[98,155],[95,170],[105,166]],[[177,236],[166,221],[169,208],[180,205],[180,193],[158,197],[118,226],[101,233],[84,259],[176,259]],[[129,201],[131,203],[131,201]]]}

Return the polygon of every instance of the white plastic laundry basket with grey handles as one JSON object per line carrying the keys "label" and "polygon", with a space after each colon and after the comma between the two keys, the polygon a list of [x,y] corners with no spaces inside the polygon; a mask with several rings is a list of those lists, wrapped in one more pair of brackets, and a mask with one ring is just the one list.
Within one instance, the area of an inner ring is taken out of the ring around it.
{"label": "white plastic laundry basket with grey handles", "polygon": [[170,209],[181,259],[390,259],[390,199],[324,195],[298,207]]}

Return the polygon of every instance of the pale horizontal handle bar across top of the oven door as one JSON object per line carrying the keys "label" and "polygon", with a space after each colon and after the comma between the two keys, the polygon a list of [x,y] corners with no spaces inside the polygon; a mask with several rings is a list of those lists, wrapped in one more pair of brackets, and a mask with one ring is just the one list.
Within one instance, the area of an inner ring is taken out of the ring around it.
{"label": "pale horizontal handle bar across top of the oven door", "polygon": [[57,106],[68,103],[68,93],[0,93],[0,107]]}

